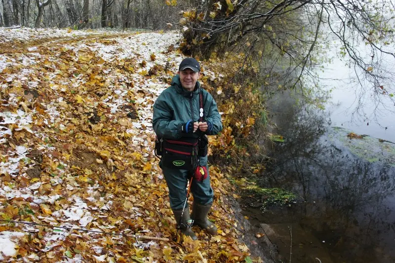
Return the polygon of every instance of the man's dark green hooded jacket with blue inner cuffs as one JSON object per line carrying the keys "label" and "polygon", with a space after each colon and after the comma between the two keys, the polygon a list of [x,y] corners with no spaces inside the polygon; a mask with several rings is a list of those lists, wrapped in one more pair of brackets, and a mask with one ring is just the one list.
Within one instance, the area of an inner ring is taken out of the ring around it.
{"label": "man's dark green hooded jacket with blue inner cuffs", "polygon": [[200,130],[187,134],[182,132],[181,126],[189,120],[199,119],[199,90],[203,91],[204,121],[209,120],[213,124],[211,132],[207,135],[218,134],[222,130],[221,115],[218,113],[217,103],[210,93],[200,88],[196,83],[195,91],[189,92],[181,85],[179,75],[175,75],[171,86],[163,90],[154,104],[153,126],[159,138],[179,139],[181,137],[198,138],[203,134]]}

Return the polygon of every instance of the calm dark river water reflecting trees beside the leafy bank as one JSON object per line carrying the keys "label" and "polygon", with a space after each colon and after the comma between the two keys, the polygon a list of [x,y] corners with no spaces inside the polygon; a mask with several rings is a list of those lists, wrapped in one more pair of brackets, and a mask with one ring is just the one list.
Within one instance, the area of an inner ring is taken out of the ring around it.
{"label": "calm dark river water reflecting trees beside the leafy bank", "polygon": [[[365,115],[353,116],[349,73],[335,58],[320,75],[336,87],[324,111],[297,106],[289,94],[270,102],[273,132],[285,142],[270,146],[275,162],[259,184],[290,190],[298,200],[262,207],[261,197],[249,196],[243,209],[276,245],[278,262],[395,262],[395,145],[376,139],[395,142],[395,114],[372,114],[366,100]],[[371,137],[349,139],[351,131]]]}

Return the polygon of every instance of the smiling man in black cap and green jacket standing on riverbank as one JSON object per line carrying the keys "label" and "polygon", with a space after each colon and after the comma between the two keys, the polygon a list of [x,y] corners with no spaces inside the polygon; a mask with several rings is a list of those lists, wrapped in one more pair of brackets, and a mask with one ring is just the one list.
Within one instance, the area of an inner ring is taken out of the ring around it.
{"label": "smiling man in black cap and green jacket standing on riverbank", "polygon": [[[157,137],[171,140],[175,145],[181,142],[178,144],[180,149],[187,144],[185,142],[188,140],[201,139],[205,135],[215,135],[222,130],[221,116],[218,113],[217,104],[213,97],[200,87],[200,83],[197,81],[199,77],[200,66],[197,60],[185,58],[179,66],[177,75],[173,77],[171,86],[159,95],[154,105],[153,126]],[[203,119],[198,121],[199,118]],[[174,152],[182,153],[183,151],[174,150]],[[204,154],[205,156],[202,156]],[[191,192],[194,195],[194,202],[191,218],[194,220],[194,225],[198,225],[209,234],[215,235],[217,227],[207,219],[207,214],[213,202],[213,189],[210,186],[207,167],[207,153],[199,154],[199,156],[197,157],[199,165],[204,167],[203,174],[207,173],[207,177],[202,181],[195,178],[192,180]],[[173,164],[177,166],[172,167],[171,163],[166,164],[164,161],[164,159],[170,157],[173,157],[171,152],[164,150],[159,163],[169,188],[170,207],[181,231],[197,240],[197,236],[190,227],[187,227],[186,223],[190,218],[188,203],[183,211],[187,198],[187,183],[193,172],[191,169],[178,169],[177,167],[185,163],[183,160],[189,159],[173,161]],[[181,155],[179,158],[181,158]]]}

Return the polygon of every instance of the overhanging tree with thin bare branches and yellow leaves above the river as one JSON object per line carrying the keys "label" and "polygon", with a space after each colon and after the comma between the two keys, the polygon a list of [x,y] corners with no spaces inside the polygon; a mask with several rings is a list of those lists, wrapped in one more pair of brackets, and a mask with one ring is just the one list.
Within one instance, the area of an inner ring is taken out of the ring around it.
{"label": "overhanging tree with thin bare branches and yellow leaves above the river", "polygon": [[[243,52],[243,67],[258,63],[266,76],[263,82],[298,87],[303,93],[300,87],[309,89],[316,79],[323,37],[333,34],[355,69],[362,93],[371,94],[377,104],[382,100],[395,104],[391,85],[395,73],[382,64],[383,55],[393,63],[395,59],[393,0],[196,0],[195,4],[180,20],[185,53],[208,58],[213,51]],[[358,50],[361,42],[368,57]]]}

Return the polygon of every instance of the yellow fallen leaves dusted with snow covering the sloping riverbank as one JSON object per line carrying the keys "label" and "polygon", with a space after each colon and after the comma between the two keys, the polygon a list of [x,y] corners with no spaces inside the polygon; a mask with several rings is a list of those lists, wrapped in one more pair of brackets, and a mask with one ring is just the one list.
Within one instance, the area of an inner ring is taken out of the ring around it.
{"label": "yellow fallen leaves dusted with snow covering the sloping riverbank", "polygon": [[225,202],[232,186],[218,167],[210,167],[216,195],[210,219],[218,235],[194,227],[199,240],[192,241],[175,229],[154,155],[152,110],[183,59],[168,51],[176,33],[22,28],[0,29],[0,39],[0,47],[14,44],[12,53],[0,54],[0,219],[171,240],[8,223],[0,225],[0,260],[248,257],[230,226],[238,224]]}

